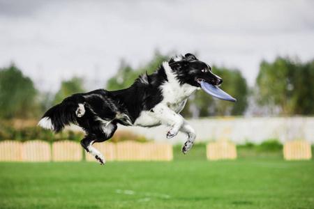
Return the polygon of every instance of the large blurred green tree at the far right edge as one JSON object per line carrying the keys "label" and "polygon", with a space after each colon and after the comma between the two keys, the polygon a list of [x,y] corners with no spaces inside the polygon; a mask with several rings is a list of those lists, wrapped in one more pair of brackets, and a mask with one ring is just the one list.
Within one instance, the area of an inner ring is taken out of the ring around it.
{"label": "large blurred green tree at the far right edge", "polygon": [[257,76],[256,100],[281,114],[313,114],[314,61],[278,57],[272,63],[262,61]]}

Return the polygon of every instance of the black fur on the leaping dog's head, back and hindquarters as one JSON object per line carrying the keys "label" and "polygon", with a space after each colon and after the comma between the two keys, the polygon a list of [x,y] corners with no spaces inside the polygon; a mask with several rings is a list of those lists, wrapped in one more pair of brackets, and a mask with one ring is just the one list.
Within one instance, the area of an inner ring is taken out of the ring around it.
{"label": "black fur on the leaping dog's head, back and hindquarters", "polygon": [[[168,63],[180,84],[199,87],[199,79],[214,85],[222,82],[211,72],[207,63],[198,61],[193,54],[170,59]],[[165,82],[168,82],[167,74],[161,65],[153,74],[145,73],[138,77],[129,88],[117,91],[98,89],[71,95],[49,109],[43,118],[50,118],[54,132],[61,131],[70,123],[82,127],[87,134],[81,144],[89,151],[87,147],[90,144],[110,139],[117,130],[117,123],[133,125],[142,111],[154,112],[153,108],[163,100],[160,86]],[[84,104],[85,112],[82,116],[75,113],[79,104]]]}

